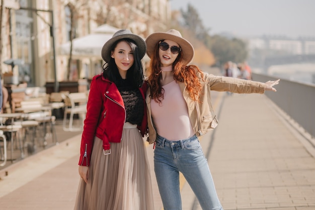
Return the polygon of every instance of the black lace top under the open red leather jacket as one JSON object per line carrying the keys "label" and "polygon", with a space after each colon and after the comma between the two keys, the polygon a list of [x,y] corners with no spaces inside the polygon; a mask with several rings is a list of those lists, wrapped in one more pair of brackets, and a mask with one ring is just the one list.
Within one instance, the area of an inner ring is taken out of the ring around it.
{"label": "black lace top under the open red leather jacket", "polygon": [[118,85],[119,93],[126,109],[126,122],[141,125],[143,118],[143,99],[138,88],[133,88],[127,80]]}

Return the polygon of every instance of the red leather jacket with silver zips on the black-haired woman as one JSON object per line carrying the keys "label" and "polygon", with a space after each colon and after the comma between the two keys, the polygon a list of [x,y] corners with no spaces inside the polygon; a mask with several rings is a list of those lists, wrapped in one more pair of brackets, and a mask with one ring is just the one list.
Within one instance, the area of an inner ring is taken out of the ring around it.
{"label": "red leather jacket with silver zips on the black-haired woman", "polygon": [[[139,88],[144,104],[142,123],[138,126],[142,137],[147,133],[146,88],[146,82]],[[102,75],[95,76],[91,81],[78,165],[90,165],[95,136],[103,140],[104,150],[110,149],[110,142],[120,143],[125,120],[124,102],[116,85]]]}

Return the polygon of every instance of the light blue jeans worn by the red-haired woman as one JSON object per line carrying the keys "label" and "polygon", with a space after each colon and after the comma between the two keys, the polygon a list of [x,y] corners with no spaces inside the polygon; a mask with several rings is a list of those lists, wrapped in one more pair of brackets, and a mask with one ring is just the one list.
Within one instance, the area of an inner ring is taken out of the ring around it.
{"label": "light blue jeans worn by the red-haired woman", "polygon": [[169,141],[157,135],[154,171],[165,210],[182,209],[179,172],[184,175],[203,210],[223,209],[196,135],[180,141]]}

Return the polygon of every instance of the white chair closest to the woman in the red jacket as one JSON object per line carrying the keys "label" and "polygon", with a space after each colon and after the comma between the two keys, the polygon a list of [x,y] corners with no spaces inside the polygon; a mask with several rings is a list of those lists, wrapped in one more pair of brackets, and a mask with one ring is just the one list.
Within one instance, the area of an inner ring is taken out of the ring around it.
{"label": "white chair closest to the woman in the red jacket", "polygon": [[[69,93],[63,95],[63,101],[65,104],[63,113],[63,130],[64,131],[78,131],[82,130],[84,119],[87,114],[87,102],[88,96],[86,93]],[[67,118],[67,115],[69,119]],[[81,126],[73,126],[74,114],[78,114],[82,119]],[[68,123],[67,123],[68,121]]]}

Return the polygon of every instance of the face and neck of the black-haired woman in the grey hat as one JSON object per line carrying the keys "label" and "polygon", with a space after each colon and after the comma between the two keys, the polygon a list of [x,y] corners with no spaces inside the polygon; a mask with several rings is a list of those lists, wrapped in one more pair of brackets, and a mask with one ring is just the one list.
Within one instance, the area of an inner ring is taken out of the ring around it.
{"label": "face and neck of the black-haired woman in the grey hat", "polygon": [[126,41],[119,42],[111,57],[114,58],[119,74],[122,79],[126,79],[128,69],[133,65],[133,51]]}

